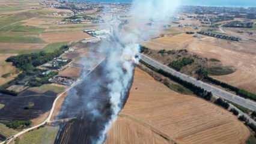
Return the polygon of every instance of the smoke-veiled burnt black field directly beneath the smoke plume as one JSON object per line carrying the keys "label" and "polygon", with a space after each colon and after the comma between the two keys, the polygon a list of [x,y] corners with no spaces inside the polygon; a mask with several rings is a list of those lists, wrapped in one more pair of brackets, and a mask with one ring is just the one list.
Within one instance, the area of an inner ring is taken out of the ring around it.
{"label": "smoke-veiled burnt black field directly beneath the smoke plume", "polygon": [[[59,118],[76,119],[61,124],[55,144],[91,144],[99,139],[101,131],[112,115],[109,89],[106,88],[109,79],[106,77],[104,65],[105,62],[85,77],[84,81],[67,96]],[[127,87],[127,95],[130,86]],[[127,95],[122,100],[123,105]]]}

